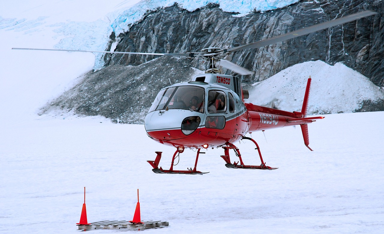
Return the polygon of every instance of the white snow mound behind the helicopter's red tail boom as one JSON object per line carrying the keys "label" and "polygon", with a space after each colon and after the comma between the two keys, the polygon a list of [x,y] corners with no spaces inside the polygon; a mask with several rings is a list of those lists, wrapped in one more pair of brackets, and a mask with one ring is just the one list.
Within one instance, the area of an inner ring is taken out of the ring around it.
{"label": "white snow mound behind the helicopter's red tail boom", "polygon": [[308,114],[351,113],[364,101],[382,101],[382,88],[343,63],[299,63],[253,84],[248,101],[286,111],[301,111],[307,80],[311,76]]}

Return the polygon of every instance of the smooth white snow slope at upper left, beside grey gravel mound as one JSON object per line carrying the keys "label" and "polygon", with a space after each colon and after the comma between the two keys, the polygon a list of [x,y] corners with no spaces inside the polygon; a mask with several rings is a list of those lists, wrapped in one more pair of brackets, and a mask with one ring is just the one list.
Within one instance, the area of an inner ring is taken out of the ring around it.
{"label": "smooth white snow slope at upper left, beside grey gravel mound", "polygon": [[1,5],[0,98],[7,101],[0,103],[0,117],[8,124],[18,124],[36,118],[41,106],[71,88],[80,75],[93,68],[95,60],[92,53],[35,53],[11,48],[53,48],[63,38],[80,35],[79,31],[59,35],[54,30],[74,22],[71,20],[93,22],[113,9],[105,3],[95,7],[94,1],[71,0],[13,1]]}

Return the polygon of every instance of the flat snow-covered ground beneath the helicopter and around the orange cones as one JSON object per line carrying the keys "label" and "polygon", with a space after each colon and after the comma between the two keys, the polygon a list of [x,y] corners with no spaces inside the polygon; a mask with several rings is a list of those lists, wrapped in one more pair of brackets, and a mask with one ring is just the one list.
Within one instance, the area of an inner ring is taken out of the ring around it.
{"label": "flat snow-covered ground beneath the helicopter and around the orange cones", "polygon": [[[168,168],[174,149],[142,125],[43,118],[3,127],[0,232],[76,232],[85,186],[89,222],[131,220],[139,189],[142,219],[170,223],[151,233],[382,233],[384,113],[325,116],[309,125],[313,152],[300,128],[266,131],[268,143],[252,134],[279,169],[228,169],[223,150],[209,149],[199,159],[198,169],[210,171],[202,176],[153,173],[146,160],[163,151]],[[245,162],[260,163],[250,142],[237,146]],[[194,157],[184,152],[175,169]]]}

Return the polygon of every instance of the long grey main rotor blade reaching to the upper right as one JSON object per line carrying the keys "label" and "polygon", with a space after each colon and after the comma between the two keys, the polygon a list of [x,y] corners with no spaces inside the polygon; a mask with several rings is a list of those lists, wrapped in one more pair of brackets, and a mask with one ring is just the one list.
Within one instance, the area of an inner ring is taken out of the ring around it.
{"label": "long grey main rotor blade reaching to the upper right", "polygon": [[348,22],[351,22],[354,20],[358,20],[360,18],[365,18],[365,17],[371,16],[371,15],[375,15],[375,14],[377,14],[377,12],[372,12],[370,10],[358,12],[358,13],[347,15],[344,17],[339,17],[339,18],[336,18],[334,20],[330,20],[330,21],[327,21],[324,23],[319,23],[319,24],[316,24],[316,25],[313,25],[310,27],[302,28],[302,29],[299,29],[299,30],[296,30],[296,31],[293,31],[290,33],[280,35],[280,36],[271,37],[271,38],[268,38],[268,39],[265,39],[262,41],[256,41],[256,42],[249,43],[246,45],[241,45],[241,46],[237,46],[237,47],[233,47],[233,48],[223,49],[223,50],[219,50],[216,52],[221,52],[221,51],[234,52],[234,51],[244,50],[244,49],[248,49],[248,48],[260,48],[263,46],[275,44],[275,43],[280,42],[280,41],[290,40],[290,39],[295,38],[295,37],[300,37],[303,35],[314,33],[314,32],[317,32],[317,31],[320,31],[320,30],[323,30],[326,28],[334,27],[337,25],[341,25],[343,23],[348,23]]}

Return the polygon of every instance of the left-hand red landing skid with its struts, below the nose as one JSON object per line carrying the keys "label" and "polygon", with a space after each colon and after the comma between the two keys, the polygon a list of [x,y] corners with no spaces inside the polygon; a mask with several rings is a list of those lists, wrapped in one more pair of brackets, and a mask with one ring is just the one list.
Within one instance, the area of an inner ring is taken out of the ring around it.
{"label": "left-hand red landing skid with its struts, below the nose", "polygon": [[195,161],[194,169],[187,168],[188,170],[185,170],[185,171],[179,171],[179,170],[174,170],[173,169],[174,161],[175,161],[175,158],[176,158],[176,154],[177,153],[180,154],[178,149],[176,149],[175,153],[172,156],[172,163],[170,164],[169,170],[164,170],[161,167],[159,168],[159,163],[160,163],[161,153],[162,152],[156,151],[155,153],[157,154],[155,161],[150,161],[150,160],[147,161],[152,166],[152,168],[153,168],[152,171],[154,173],[157,173],[157,174],[200,174],[200,175],[208,173],[208,172],[201,172],[201,171],[197,171],[196,170],[197,161],[199,160],[199,154],[205,154],[205,153],[200,153],[200,149],[197,149],[196,161]]}

